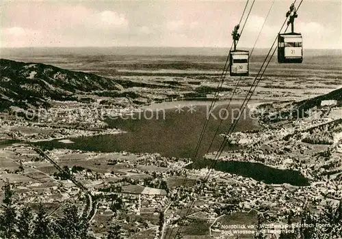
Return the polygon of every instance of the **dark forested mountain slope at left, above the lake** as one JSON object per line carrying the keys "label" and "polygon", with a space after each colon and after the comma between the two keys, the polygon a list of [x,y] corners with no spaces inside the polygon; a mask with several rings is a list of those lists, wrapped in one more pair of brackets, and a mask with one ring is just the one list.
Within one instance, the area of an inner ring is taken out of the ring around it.
{"label": "dark forested mountain slope at left, above the lake", "polygon": [[120,89],[118,81],[95,74],[0,59],[0,110],[47,106],[47,98],[73,100],[73,94]]}

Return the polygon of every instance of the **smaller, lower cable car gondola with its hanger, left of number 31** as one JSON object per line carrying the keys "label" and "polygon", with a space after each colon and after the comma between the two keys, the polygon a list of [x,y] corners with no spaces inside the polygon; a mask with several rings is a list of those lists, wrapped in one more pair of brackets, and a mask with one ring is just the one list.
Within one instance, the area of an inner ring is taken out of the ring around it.
{"label": "smaller, lower cable car gondola with its hanger, left of number 31", "polygon": [[249,72],[249,51],[241,51],[236,49],[237,41],[239,41],[240,34],[237,33],[239,25],[234,27],[232,33],[234,41],[234,50],[230,51],[229,55],[229,66],[231,76],[248,76]]}

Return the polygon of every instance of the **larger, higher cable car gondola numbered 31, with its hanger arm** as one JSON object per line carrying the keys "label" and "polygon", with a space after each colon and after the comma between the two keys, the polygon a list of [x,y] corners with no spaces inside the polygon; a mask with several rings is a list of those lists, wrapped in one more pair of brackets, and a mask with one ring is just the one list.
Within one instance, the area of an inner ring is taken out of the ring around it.
{"label": "larger, higher cable car gondola numbered 31, with its hanger arm", "polygon": [[291,33],[278,34],[278,63],[302,63],[303,40],[301,33],[294,32],[294,20],[298,15],[293,3],[286,16],[290,16],[287,25],[291,24]]}

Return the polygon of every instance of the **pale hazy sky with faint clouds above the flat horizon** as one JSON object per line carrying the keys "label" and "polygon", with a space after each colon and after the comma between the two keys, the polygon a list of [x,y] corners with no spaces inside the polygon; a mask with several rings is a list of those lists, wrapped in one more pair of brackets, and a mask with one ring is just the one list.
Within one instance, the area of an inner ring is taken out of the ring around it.
{"label": "pale hazy sky with faint clouds above the flat horizon", "polygon": [[[274,1],[257,47],[272,44],[291,2]],[[231,31],[239,23],[246,0],[0,3],[1,47],[230,47]],[[271,4],[272,0],[255,1],[239,46],[254,45]],[[304,47],[342,48],[341,11],[341,0],[304,0],[295,20],[295,31],[302,33]]]}

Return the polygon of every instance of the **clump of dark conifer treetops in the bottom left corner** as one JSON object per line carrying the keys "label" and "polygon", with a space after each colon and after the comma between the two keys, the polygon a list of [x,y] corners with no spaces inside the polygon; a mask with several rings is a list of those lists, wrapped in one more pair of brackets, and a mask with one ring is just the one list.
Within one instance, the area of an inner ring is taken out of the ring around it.
{"label": "clump of dark conifer treetops in the bottom left corner", "polygon": [[0,214],[0,238],[18,239],[94,239],[89,234],[88,219],[79,216],[77,206],[67,206],[64,209],[64,216],[56,221],[49,219],[42,206],[39,204],[38,212],[34,216],[29,206],[19,210],[18,217],[16,208],[12,203],[12,185],[6,182],[3,186],[4,210]]}

